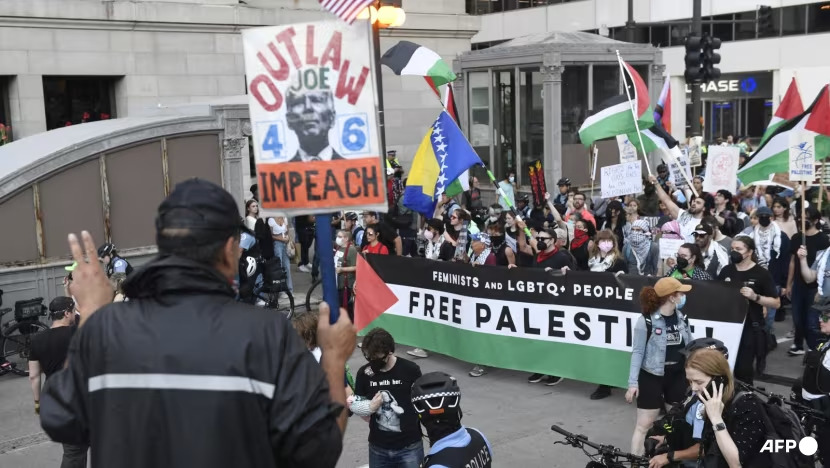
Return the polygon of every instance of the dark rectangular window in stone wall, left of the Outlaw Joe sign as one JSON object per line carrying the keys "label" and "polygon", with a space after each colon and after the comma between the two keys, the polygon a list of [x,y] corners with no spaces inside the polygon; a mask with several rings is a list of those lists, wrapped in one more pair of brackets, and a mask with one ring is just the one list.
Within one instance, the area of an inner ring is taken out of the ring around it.
{"label": "dark rectangular window in stone wall, left of the Outlaw Joe sign", "polygon": [[44,76],[46,129],[115,118],[115,77]]}

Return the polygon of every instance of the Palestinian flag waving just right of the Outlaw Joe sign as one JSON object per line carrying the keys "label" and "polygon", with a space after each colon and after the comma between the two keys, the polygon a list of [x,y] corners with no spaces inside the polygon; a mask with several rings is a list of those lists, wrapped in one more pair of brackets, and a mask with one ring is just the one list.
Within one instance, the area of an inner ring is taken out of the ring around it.
{"label": "Palestinian flag waving just right of the Outlaw Joe sign", "polygon": [[437,92],[438,87],[455,81],[452,68],[438,53],[409,41],[400,41],[387,50],[380,63],[396,75],[423,76]]}

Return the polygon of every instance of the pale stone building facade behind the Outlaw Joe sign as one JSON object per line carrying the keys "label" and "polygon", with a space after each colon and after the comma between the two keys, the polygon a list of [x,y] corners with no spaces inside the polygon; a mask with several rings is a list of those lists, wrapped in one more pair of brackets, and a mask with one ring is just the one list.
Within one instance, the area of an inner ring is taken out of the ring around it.
{"label": "pale stone building facade behind the Outlaw Joe sign", "polygon": [[[470,49],[479,18],[463,0],[403,0],[406,22],[381,31],[448,62]],[[336,19],[317,0],[3,0],[0,123],[11,138],[153,108],[246,93],[245,28]],[[441,109],[423,79],[384,67],[386,141],[414,155]]]}

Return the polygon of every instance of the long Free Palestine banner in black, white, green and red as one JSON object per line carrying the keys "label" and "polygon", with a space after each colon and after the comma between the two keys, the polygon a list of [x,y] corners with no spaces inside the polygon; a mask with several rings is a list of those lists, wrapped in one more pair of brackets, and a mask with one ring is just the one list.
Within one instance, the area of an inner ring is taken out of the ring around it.
{"label": "long Free Palestine banner in black, white, green and red", "polygon": [[[373,271],[358,277],[362,294],[394,295],[365,330],[383,327],[395,342],[480,365],[558,375],[626,387],[640,290],[657,278],[569,271],[473,268],[453,262],[367,255]],[[374,287],[361,283],[376,274]],[[362,276],[362,278],[361,278]],[[711,336],[732,351],[734,365],[746,299],[739,285],[690,281],[683,313],[695,337]],[[368,289],[368,290],[367,290]],[[712,307],[718,304],[718,307]],[[358,307],[355,321],[365,310]],[[368,323],[368,322],[361,322]],[[656,331],[655,331],[656,332]]]}

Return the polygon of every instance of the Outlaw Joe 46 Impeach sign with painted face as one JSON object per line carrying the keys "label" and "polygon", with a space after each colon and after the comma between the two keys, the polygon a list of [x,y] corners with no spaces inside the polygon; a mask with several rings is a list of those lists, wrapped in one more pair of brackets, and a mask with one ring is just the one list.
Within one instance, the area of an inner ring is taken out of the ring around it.
{"label": "Outlaw Joe 46 Impeach sign with painted face", "polygon": [[247,29],[242,38],[260,206],[385,211],[367,23]]}

